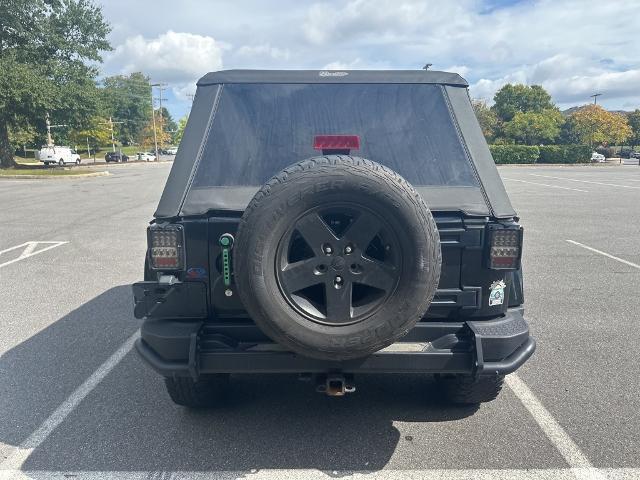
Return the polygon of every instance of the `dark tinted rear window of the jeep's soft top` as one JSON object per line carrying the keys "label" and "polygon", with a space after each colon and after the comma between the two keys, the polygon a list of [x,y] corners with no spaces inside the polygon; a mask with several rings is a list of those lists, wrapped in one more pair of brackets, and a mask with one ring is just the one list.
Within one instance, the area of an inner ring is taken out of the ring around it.
{"label": "dark tinted rear window of the jeep's soft top", "polygon": [[336,134],[413,185],[479,186],[439,85],[226,84],[192,188],[262,185]]}

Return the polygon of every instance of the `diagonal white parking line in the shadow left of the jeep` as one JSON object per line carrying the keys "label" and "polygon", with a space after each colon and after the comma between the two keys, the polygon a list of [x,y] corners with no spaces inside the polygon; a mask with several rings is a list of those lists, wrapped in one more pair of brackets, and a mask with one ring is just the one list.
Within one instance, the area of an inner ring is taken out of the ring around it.
{"label": "diagonal white parking line in the shadow left of the jeep", "polygon": [[127,353],[133,347],[136,339],[140,335],[140,331],[131,335],[116,352],[111,355],[98,369],[87,378],[62,404],[49,415],[49,417],[22,442],[17,449],[12,452],[2,463],[0,463],[0,471],[10,470],[19,471],[25,460],[31,455],[34,449],[38,448],[51,433],[58,428],[67,416],[75,410],[75,408],[84,400],[84,398],[96,388],[102,380],[109,374],[113,368],[120,363]]}

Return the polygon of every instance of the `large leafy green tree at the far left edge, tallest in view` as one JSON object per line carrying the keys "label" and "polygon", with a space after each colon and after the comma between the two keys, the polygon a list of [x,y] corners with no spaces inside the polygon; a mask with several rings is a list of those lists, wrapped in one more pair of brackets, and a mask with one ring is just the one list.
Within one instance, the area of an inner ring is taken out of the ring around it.
{"label": "large leafy green tree at the far left edge, tallest in view", "polygon": [[91,62],[111,47],[109,26],[90,0],[0,3],[0,166],[15,165],[9,131],[80,125],[97,107]]}

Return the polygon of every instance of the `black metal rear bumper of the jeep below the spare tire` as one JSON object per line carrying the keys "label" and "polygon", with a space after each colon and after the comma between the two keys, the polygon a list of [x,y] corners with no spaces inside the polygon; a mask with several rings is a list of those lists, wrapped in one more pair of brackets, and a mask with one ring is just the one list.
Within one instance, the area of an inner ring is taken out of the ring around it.
{"label": "black metal rear bumper of the jeep below the spare tire", "polygon": [[522,308],[494,320],[420,322],[401,342],[348,361],[285,351],[250,323],[147,319],[136,343],[140,356],[161,375],[193,378],[209,373],[506,375],[524,364],[535,347]]}

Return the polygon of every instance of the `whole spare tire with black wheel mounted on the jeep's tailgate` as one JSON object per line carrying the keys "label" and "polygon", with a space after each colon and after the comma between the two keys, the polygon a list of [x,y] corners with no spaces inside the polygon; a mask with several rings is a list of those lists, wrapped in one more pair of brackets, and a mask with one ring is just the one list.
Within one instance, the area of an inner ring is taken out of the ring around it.
{"label": "whole spare tire with black wheel mounted on the jeep's tailgate", "polygon": [[358,157],[311,158],[269,180],[234,245],[240,299],[274,341],[346,360],[397,341],[440,277],[440,238],[400,175]]}

